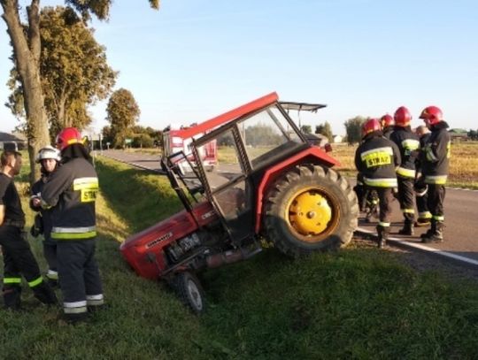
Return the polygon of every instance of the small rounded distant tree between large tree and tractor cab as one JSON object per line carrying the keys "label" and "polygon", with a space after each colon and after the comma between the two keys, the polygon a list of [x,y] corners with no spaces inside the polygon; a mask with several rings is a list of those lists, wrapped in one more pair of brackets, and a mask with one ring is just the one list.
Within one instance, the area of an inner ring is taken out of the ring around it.
{"label": "small rounded distant tree between large tree and tractor cab", "polygon": [[123,147],[128,136],[133,134],[133,126],[140,116],[135,96],[126,88],[112,93],[106,107],[106,120],[110,122],[113,146]]}

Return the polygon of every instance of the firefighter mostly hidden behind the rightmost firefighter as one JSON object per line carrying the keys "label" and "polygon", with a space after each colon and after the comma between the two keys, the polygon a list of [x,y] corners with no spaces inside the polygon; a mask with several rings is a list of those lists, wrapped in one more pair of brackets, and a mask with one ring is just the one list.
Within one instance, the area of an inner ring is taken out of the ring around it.
{"label": "firefighter mostly hidden behind the rightmost firefighter", "polygon": [[[416,134],[420,138],[420,149],[425,148],[425,144],[428,142],[428,138],[431,133],[427,126],[417,126]],[[429,226],[431,220],[431,212],[428,211],[428,185],[425,183],[423,176],[421,176],[421,163],[420,157],[417,157],[415,161],[415,168],[417,175],[415,178],[415,202],[417,203],[418,218],[415,226]]]}

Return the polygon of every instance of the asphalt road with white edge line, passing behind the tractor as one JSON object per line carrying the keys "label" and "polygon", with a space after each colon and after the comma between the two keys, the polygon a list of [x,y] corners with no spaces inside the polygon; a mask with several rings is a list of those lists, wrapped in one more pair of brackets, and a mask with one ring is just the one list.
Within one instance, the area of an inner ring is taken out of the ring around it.
{"label": "asphalt road with white edge line, passing behind the tractor", "polygon": [[[158,156],[128,153],[121,150],[107,150],[103,152],[103,155],[143,169],[160,172]],[[390,242],[432,252],[463,264],[478,267],[478,191],[456,188],[447,188],[446,191],[445,229],[442,243],[422,244],[420,234],[427,230],[424,227],[416,227],[414,236],[398,235],[397,231],[402,226],[403,219],[397,201],[393,204]],[[376,223],[367,224],[363,218],[360,218],[358,232],[375,234],[375,226]]]}

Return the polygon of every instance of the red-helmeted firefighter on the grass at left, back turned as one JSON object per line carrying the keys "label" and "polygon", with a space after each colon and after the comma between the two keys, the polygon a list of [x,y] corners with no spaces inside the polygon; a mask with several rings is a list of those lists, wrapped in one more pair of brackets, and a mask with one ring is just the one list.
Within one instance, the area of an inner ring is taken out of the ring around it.
{"label": "red-helmeted firefighter on the grass at left, back turned", "polygon": [[103,305],[95,259],[98,178],[81,134],[67,127],[57,136],[62,165],[43,185],[42,207],[51,208],[51,238],[57,241],[58,277],[67,322],[88,318]]}

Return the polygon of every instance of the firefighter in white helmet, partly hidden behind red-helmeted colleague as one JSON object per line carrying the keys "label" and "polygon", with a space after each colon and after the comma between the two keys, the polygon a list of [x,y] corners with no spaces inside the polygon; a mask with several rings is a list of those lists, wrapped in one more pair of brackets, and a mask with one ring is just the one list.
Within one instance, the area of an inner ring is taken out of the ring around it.
{"label": "firefighter in white helmet, partly hidden behind red-helmeted colleague", "polygon": [[58,271],[57,271],[57,241],[51,239],[51,210],[43,210],[41,206],[42,188],[45,182],[50,178],[50,175],[57,169],[61,160],[58,149],[48,145],[40,149],[36,162],[40,163],[40,171],[42,177],[36,181],[32,187],[32,197],[30,198],[30,208],[33,211],[39,211],[35,216],[35,223],[32,226],[30,233],[37,237],[43,234],[43,256],[48,263],[48,271],[46,278],[51,287],[58,286]]}

